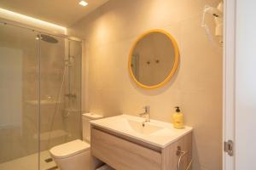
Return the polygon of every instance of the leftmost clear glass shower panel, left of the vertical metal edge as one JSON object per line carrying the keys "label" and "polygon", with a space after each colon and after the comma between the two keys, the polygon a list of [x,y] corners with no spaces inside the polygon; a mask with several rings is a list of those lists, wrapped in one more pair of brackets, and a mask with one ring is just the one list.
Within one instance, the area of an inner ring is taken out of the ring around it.
{"label": "leftmost clear glass shower panel, left of the vertical metal edge", "polygon": [[37,35],[0,24],[0,170],[38,169]]}

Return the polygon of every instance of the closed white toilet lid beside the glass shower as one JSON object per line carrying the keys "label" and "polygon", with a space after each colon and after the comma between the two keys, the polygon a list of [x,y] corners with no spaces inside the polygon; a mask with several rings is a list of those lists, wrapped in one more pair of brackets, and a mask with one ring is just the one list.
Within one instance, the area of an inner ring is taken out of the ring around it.
{"label": "closed white toilet lid beside the glass shower", "polygon": [[54,158],[67,158],[77,155],[85,150],[90,149],[90,144],[82,140],[73,140],[66,144],[60,144],[49,150],[49,153]]}

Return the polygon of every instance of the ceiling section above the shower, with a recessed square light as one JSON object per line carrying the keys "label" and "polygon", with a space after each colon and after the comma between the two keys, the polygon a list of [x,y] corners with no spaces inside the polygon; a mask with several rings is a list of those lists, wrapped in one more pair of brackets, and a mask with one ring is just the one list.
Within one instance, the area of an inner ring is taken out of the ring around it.
{"label": "ceiling section above the shower, with a recessed square light", "polygon": [[84,1],[88,3],[85,7],[79,5],[79,0],[0,0],[0,8],[68,27],[108,2],[108,0]]}

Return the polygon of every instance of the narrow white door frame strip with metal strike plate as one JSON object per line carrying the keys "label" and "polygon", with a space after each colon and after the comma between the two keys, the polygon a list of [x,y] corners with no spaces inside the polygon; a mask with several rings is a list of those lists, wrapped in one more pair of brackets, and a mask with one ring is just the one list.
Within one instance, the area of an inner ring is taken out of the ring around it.
{"label": "narrow white door frame strip with metal strike plate", "polygon": [[[236,134],[236,0],[224,0],[223,142]],[[234,145],[235,146],[235,145]],[[223,169],[235,170],[236,150],[229,156],[223,149]]]}

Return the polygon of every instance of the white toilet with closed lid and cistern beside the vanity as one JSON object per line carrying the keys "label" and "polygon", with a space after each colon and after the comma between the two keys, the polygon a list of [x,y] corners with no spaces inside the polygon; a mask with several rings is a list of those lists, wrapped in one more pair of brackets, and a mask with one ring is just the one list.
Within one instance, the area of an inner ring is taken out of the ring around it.
{"label": "white toilet with closed lid and cistern beside the vanity", "polygon": [[73,140],[49,150],[50,156],[61,170],[90,170],[90,121],[101,118],[100,115],[84,113],[83,141]]}

